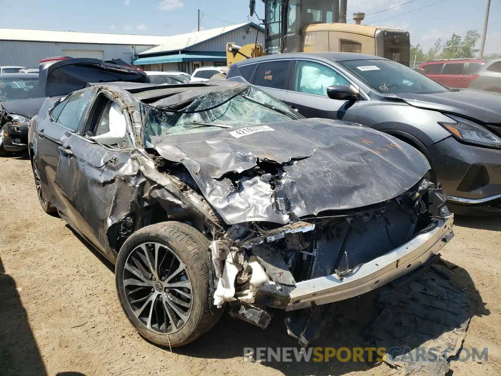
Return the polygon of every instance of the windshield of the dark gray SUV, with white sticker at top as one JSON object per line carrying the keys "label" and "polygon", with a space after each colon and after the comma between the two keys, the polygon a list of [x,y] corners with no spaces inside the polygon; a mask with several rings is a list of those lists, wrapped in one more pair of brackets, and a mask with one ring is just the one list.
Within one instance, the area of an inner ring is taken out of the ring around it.
{"label": "windshield of the dark gray SUV, with white sticker at top", "polygon": [[383,94],[431,94],[450,91],[409,67],[391,60],[350,60],[339,62]]}

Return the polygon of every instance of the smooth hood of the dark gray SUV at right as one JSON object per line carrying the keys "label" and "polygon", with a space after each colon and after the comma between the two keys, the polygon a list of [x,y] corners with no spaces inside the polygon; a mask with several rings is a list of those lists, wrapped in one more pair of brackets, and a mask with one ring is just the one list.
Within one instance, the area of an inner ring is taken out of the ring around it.
{"label": "smooth hood of the dark gray SUV at right", "polygon": [[414,107],[463,115],[484,123],[501,123],[501,95],[464,89],[436,94],[397,94]]}

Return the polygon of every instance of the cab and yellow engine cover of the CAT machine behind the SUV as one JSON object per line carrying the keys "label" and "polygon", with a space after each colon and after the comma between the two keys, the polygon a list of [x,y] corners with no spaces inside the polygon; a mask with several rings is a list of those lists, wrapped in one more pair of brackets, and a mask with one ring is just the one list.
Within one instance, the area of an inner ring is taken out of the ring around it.
{"label": "cab and yellow engine cover of the CAT machine behind the SUV", "polygon": [[410,64],[409,33],[347,24],[346,1],[263,2],[267,55],[290,52],[354,52],[385,57],[407,66]]}

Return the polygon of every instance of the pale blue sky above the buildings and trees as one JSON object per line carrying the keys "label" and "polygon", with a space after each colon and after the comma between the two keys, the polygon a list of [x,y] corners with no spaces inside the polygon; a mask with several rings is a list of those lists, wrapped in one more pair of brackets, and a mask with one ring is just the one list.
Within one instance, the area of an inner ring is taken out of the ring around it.
{"label": "pale blue sky above the buildings and trees", "polygon": [[[370,14],[408,1],[348,0],[348,15],[354,12]],[[368,16],[364,24],[405,29],[411,33],[412,44],[420,43],[424,49],[431,47],[438,38],[450,38],[453,32],[461,36],[470,29],[482,32],[486,0],[442,0],[439,4],[403,15],[438,1],[415,0]],[[0,0],[0,10],[4,15],[0,27],[175,35],[196,30],[197,9],[203,15],[202,27],[211,29],[246,22],[248,0]],[[260,0],[257,10],[263,17]],[[486,53],[501,53],[500,16],[501,1],[491,1]]]}

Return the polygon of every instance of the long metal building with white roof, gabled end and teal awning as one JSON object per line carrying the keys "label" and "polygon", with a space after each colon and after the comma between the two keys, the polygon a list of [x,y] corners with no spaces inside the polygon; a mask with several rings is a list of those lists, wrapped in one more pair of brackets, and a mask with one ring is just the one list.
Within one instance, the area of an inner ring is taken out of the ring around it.
{"label": "long metal building with white roof, gabled end and teal awning", "polygon": [[[51,56],[122,59],[145,70],[180,70],[226,65],[226,42],[253,43],[256,24],[239,24],[171,37],[105,33],[81,33],[31,29],[0,29],[0,65],[38,67]],[[175,55],[175,56],[174,56]]]}

